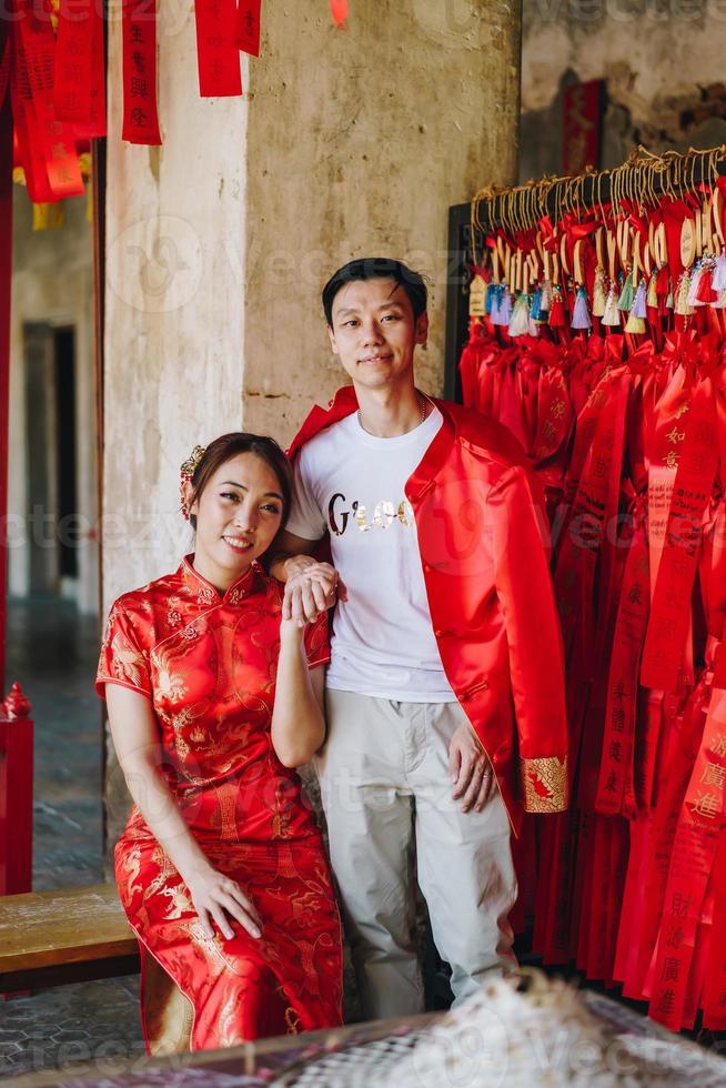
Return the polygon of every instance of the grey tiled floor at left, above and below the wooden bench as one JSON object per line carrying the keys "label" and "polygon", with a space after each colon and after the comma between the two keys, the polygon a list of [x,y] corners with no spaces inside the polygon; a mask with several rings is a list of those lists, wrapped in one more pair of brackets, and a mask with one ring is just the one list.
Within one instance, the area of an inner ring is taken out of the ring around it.
{"label": "grey tiled floor at left, above and below the wooden bench", "polygon": [[[97,621],[65,602],[10,604],[8,683],[21,682],[36,724],[34,890],[103,879],[98,643]],[[138,1003],[138,977],[0,999],[0,1078],[59,1066],[110,1074],[143,1052]]]}

